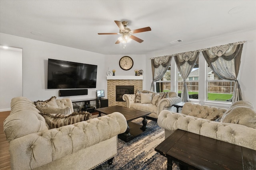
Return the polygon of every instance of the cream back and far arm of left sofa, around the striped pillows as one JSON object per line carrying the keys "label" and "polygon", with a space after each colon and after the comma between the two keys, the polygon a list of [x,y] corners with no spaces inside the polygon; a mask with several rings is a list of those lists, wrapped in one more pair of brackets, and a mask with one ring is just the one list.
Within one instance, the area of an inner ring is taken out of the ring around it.
{"label": "cream back and far arm of left sofa, around the striped pillows", "polygon": [[[69,106],[74,111],[70,99],[58,99],[57,105],[61,108]],[[6,140],[28,135],[30,133],[48,130],[48,124],[39,114],[34,102],[25,97],[16,97],[11,101],[10,115],[4,120],[4,133]]]}

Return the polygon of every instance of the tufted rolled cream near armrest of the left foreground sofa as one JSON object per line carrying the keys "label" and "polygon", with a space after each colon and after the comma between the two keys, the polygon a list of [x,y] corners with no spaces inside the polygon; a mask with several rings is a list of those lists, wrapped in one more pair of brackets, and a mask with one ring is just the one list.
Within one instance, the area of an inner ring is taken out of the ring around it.
{"label": "tufted rolled cream near armrest of the left foreground sofa", "polygon": [[12,169],[40,167],[115,137],[126,129],[124,115],[114,112],[57,129],[31,133],[10,141],[10,156],[15,162]]}

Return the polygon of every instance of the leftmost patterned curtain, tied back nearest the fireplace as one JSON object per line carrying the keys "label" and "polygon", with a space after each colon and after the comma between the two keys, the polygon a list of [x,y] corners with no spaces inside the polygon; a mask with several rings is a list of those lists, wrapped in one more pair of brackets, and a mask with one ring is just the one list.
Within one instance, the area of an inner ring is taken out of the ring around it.
{"label": "leftmost patterned curtain, tied back nearest the fireplace", "polygon": [[151,59],[152,77],[153,77],[153,82],[151,84],[151,91],[156,92],[156,87],[154,82],[160,80],[164,76],[164,74],[168,70],[168,67],[170,66],[171,60],[172,60],[171,55],[155,57]]}

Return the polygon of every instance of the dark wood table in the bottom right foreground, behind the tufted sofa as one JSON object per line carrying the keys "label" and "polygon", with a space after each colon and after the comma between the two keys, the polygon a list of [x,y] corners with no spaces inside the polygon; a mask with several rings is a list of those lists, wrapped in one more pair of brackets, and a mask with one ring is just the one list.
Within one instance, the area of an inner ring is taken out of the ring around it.
{"label": "dark wood table in the bottom right foreground, behind the tufted sofa", "polygon": [[177,129],[155,150],[167,158],[194,170],[256,170],[256,150]]}

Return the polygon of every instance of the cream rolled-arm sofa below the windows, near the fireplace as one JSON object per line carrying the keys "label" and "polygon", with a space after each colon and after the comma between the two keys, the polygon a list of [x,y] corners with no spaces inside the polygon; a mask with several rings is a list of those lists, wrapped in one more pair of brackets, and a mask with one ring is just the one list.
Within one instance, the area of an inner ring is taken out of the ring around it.
{"label": "cream rolled-arm sofa below the windows, near the fireplace", "polygon": [[[149,90],[143,90],[142,93],[152,93],[152,97],[161,94]],[[151,112],[148,117],[157,119],[162,110],[172,110],[174,104],[181,102],[181,98],[176,92],[168,92],[168,96],[168,98],[161,99],[157,106],[152,103],[135,103],[135,94],[124,94],[123,100],[126,101],[126,107]]]}

